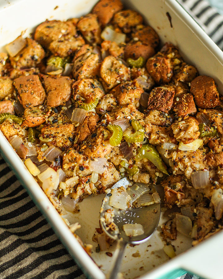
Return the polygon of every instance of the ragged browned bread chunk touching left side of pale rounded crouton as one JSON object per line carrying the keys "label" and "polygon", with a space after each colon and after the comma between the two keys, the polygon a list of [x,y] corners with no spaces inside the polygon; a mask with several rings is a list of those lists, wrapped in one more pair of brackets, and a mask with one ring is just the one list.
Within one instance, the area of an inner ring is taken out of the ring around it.
{"label": "ragged browned bread chunk touching left side of pale rounded crouton", "polygon": [[146,126],[146,132],[149,134],[148,139],[149,143],[152,145],[161,145],[164,142],[171,142],[176,144],[177,141],[174,138],[171,127],[160,127],[156,125]]}

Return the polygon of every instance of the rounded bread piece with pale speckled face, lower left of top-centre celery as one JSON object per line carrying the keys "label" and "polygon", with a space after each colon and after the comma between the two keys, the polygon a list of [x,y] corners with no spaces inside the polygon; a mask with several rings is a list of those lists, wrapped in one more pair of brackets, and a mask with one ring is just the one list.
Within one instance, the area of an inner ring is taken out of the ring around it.
{"label": "rounded bread piece with pale speckled face, lower left of top-centre celery", "polygon": [[105,91],[130,78],[129,69],[114,56],[107,56],[101,64],[101,78]]}

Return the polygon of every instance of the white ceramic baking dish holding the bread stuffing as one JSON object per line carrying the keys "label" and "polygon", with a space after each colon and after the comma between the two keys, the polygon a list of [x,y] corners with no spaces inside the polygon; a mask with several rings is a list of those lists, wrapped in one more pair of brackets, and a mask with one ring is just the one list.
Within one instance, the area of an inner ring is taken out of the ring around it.
{"label": "white ceramic baking dish holding the bread stuffing", "polygon": [[[1,51],[4,51],[5,44],[13,41],[22,31],[26,30],[25,35],[28,36],[35,26],[46,19],[65,20],[79,17],[89,12],[95,2],[97,0],[39,0],[38,2],[35,0],[11,0],[10,2],[0,0]],[[195,65],[200,74],[213,77],[219,92],[223,93],[222,51],[175,0],[125,0],[124,4],[125,7],[142,13],[145,20],[159,33],[162,42],[172,42],[177,45],[184,59]],[[0,151],[85,274],[89,278],[104,279],[103,272],[107,272],[112,258],[108,257],[105,251],[94,252],[92,258],[101,266],[98,268],[82,249],[1,132]],[[83,241],[92,243],[94,247],[96,244],[91,241],[91,238],[95,227],[98,227],[102,199],[102,196],[89,197],[80,204],[79,214],[66,215],[71,222],[81,223],[82,228],[77,233]],[[162,250],[163,242],[159,231],[145,244],[127,247],[122,264],[125,277],[174,279],[189,271],[206,279],[223,278],[221,267],[223,231],[194,248],[190,248],[191,240],[181,235],[172,243],[177,250],[177,257],[172,260],[168,260]],[[112,247],[112,250],[114,249],[115,245]],[[140,257],[134,257],[134,255],[140,255]]]}

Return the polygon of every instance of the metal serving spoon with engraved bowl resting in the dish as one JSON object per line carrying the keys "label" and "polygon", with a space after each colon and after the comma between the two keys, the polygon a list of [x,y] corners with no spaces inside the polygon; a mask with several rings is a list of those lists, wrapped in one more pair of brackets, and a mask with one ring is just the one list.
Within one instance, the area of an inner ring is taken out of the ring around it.
{"label": "metal serving spoon with engraved bowl resting in the dish", "polygon": [[[123,186],[127,188],[129,185],[133,185],[133,182],[125,177],[115,183],[111,189],[120,188]],[[144,184],[145,185],[145,184]],[[151,186],[151,184],[148,184]],[[160,220],[160,203],[154,203],[149,206],[142,206],[139,208],[127,208],[125,210],[119,210],[110,206],[111,194],[108,193],[102,202],[100,210],[100,223],[104,232],[112,239],[118,239],[116,251],[114,253],[114,262],[110,272],[107,274],[107,279],[117,279],[118,272],[121,266],[121,259],[125,251],[126,245],[129,244],[140,244],[147,241],[153,232],[156,230]],[[108,209],[112,209],[115,216],[113,217],[114,223],[117,225],[118,230],[107,230],[107,226],[104,219],[104,214]],[[138,236],[129,237],[125,234],[122,229],[124,224],[141,224],[144,228],[144,233]]]}

